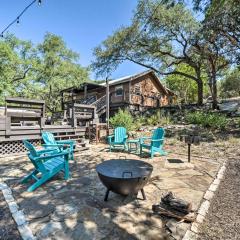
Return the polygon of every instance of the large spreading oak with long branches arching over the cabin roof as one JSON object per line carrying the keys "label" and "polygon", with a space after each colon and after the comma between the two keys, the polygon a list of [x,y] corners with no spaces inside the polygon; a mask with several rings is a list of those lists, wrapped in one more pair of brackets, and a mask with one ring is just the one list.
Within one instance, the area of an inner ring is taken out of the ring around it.
{"label": "large spreading oak with long branches arching over the cabin roof", "polygon": [[[92,64],[98,75],[109,75],[123,61],[131,61],[161,75],[180,75],[198,85],[198,103],[203,102],[203,61],[192,42],[200,25],[183,4],[140,0],[132,24],[122,27],[95,48]],[[187,64],[194,71],[181,72]]]}

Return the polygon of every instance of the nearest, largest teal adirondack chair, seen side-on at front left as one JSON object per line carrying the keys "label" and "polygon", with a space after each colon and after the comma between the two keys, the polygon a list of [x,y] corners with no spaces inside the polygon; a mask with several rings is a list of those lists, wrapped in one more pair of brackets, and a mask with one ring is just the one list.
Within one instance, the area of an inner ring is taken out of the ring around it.
{"label": "nearest, largest teal adirondack chair, seen side-on at front left", "polygon": [[23,140],[23,143],[29,150],[28,157],[35,167],[30,174],[21,180],[21,183],[27,183],[30,179],[36,180],[36,182],[28,188],[28,192],[34,191],[60,171],[64,171],[65,180],[69,178],[69,150],[62,152],[56,152],[54,149],[37,151],[27,140]]}

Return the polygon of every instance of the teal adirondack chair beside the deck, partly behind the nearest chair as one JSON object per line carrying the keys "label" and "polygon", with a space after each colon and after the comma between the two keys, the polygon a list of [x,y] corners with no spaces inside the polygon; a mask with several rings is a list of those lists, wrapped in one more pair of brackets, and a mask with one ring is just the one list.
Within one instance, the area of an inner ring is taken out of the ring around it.
{"label": "teal adirondack chair beside the deck, partly behind the nearest chair", "polygon": [[51,132],[43,132],[42,138],[45,143],[43,144],[43,146],[46,149],[55,148],[55,149],[59,149],[59,151],[62,151],[65,146],[68,146],[70,150],[69,160],[74,160],[73,151],[74,151],[74,146],[76,145],[76,142],[74,140],[56,141]]}

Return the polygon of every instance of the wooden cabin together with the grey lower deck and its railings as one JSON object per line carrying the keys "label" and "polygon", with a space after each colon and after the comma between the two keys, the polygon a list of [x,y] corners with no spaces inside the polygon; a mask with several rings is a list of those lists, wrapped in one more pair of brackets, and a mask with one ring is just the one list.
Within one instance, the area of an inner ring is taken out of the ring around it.
{"label": "wooden cabin together with the grey lower deck and its railings", "polygon": [[85,137],[98,142],[107,134],[106,92],[109,89],[110,116],[119,108],[133,114],[174,103],[175,94],[164,87],[153,71],[123,77],[105,83],[84,83],[61,91],[62,109],[46,121],[45,101],[7,97],[0,107],[0,154],[25,152],[28,139],[41,143],[43,131],[54,133],[58,140],[74,139],[78,150],[85,148]]}

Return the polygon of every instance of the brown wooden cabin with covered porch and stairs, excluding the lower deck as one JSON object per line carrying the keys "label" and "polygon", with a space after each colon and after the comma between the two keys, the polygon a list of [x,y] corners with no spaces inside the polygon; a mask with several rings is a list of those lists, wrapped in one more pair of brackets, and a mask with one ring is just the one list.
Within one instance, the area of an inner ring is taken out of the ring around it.
{"label": "brown wooden cabin with covered porch and stairs, excluding the lower deck", "polygon": [[[171,105],[176,101],[176,95],[163,86],[154,71],[110,80],[109,84],[109,113],[113,116],[119,108],[129,109],[133,114],[145,112],[148,109]],[[73,87],[61,91],[62,115],[79,116],[76,122],[83,123],[89,118],[106,120],[106,83],[84,83],[79,88]],[[77,108],[88,105],[91,112],[76,111]],[[75,106],[75,108],[73,107]],[[81,113],[80,113],[81,112]],[[85,112],[85,114],[83,114]],[[89,115],[88,115],[89,114]]]}

